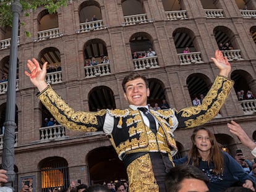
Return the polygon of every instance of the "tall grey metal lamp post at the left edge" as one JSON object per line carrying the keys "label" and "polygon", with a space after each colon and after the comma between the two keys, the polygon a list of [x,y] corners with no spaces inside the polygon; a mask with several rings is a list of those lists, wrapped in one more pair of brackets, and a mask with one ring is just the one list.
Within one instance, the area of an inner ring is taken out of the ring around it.
{"label": "tall grey metal lamp post at the left edge", "polygon": [[[22,9],[19,0],[12,2],[12,36],[8,73],[8,90],[6,104],[6,120],[4,122],[4,141],[2,149],[2,169],[7,170],[8,182],[4,186],[12,188],[15,179],[14,172],[14,143],[15,143],[15,98],[16,98],[16,75],[17,75],[17,51],[19,14]],[[13,189],[12,189],[13,190]]]}

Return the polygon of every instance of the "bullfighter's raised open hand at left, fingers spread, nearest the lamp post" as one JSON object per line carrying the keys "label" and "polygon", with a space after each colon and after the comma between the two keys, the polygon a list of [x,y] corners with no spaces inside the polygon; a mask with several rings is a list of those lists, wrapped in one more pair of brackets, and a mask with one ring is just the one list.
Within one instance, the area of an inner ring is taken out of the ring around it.
{"label": "bullfighter's raised open hand at left, fingers spread, nearest the lamp post", "polygon": [[46,64],[43,64],[43,68],[41,69],[38,61],[35,58],[28,60],[27,66],[30,70],[30,73],[25,71],[25,75],[30,78],[30,81],[35,85],[39,91],[42,91],[46,88],[47,83],[45,82],[45,75],[46,75]]}

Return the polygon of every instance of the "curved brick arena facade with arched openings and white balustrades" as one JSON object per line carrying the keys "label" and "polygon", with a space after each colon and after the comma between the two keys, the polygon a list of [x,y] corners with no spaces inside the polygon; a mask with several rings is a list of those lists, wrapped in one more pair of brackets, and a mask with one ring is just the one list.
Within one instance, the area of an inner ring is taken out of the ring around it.
{"label": "curved brick arena facade with arched openings and white balustrades", "polygon": [[[53,186],[66,186],[70,180],[81,179],[88,184],[126,178],[104,133],[70,131],[61,125],[42,127],[50,114],[23,73],[27,59],[32,57],[41,63],[48,61],[48,67],[61,67],[49,72],[46,80],[75,111],[125,109],[121,83],[132,71],[150,80],[151,105],[166,99],[169,106],[179,110],[191,106],[195,96],[207,93],[218,75],[210,58],[220,43],[229,43],[229,50],[223,54],[231,63],[235,86],[220,114],[205,127],[232,155],[240,148],[252,159],[249,149],[229,133],[226,123],[236,120],[256,140],[256,100],[238,101],[236,96],[240,90],[256,93],[255,19],[255,0],[71,0],[53,15],[44,7],[30,12],[30,17],[20,14],[25,25],[20,26],[17,58],[16,185],[20,187],[22,178],[33,177],[36,191],[47,191]],[[25,36],[25,31],[30,31],[31,37]],[[8,28],[0,29],[0,75],[5,77],[10,34]],[[186,47],[189,53],[183,53]],[[133,52],[147,54],[149,48],[155,56],[132,58]],[[104,56],[109,60],[105,64],[85,65],[92,57],[101,62]],[[0,84],[2,126],[7,81]],[[177,156],[187,154],[192,131],[174,132]],[[50,174],[65,179],[53,182]]]}

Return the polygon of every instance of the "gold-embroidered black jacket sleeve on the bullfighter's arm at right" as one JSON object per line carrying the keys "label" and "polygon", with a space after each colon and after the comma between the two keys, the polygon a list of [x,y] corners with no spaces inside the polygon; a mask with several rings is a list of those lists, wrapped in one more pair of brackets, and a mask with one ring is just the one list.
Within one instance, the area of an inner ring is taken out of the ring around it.
{"label": "gold-embroidered black jacket sleeve on the bullfighter's arm at right", "polygon": [[196,127],[213,119],[223,106],[233,85],[234,81],[218,75],[201,105],[186,107],[176,113],[179,120],[178,128]]}

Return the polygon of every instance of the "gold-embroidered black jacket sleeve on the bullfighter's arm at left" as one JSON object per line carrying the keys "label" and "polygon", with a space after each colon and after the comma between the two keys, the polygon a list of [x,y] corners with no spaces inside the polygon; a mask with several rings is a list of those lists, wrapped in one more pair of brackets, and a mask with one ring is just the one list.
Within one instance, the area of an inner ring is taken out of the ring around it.
{"label": "gold-embroidered black jacket sleeve on the bullfighter's arm at left", "polygon": [[53,117],[66,128],[83,131],[102,131],[106,110],[98,112],[75,112],[60,96],[48,86],[38,94],[38,98],[51,112]]}

